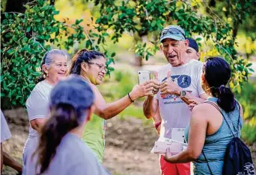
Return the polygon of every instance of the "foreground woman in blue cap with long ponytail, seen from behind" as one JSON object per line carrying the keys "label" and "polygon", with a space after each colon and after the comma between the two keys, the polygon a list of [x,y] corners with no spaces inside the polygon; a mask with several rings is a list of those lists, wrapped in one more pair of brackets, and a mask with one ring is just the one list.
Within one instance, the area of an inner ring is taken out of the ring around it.
{"label": "foreground woman in blue cap with long ponytail, seen from behind", "polygon": [[81,140],[94,111],[94,93],[82,77],[61,80],[49,99],[49,118],[40,130],[37,147],[28,151],[26,175],[108,175]]}

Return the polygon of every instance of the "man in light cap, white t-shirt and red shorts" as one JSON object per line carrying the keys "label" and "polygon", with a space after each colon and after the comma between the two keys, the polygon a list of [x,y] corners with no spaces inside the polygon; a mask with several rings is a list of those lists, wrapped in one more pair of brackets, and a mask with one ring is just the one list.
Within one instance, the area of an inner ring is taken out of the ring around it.
{"label": "man in light cap, white t-shirt and red shorts", "polygon": [[[186,54],[189,41],[185,31],[177,25],[164,28],[160,48],[168,64],[159,69],[159,90],[144,101],[144,115],[153,118],[160,137],[183,141],[183,130],[189,125],[191,100],[204,101],[207,95],[201,88],[202,63]],[[161,128],[161,130],[159,130]],[[190,159],[190,158],[188,158]],[[171,164],[160,156],[162,175],[189,175],[190,163]]]}

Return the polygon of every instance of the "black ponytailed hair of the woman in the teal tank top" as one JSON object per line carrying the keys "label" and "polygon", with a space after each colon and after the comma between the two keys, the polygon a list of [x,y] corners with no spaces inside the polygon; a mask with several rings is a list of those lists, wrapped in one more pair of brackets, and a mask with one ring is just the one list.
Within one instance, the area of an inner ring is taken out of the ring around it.
{"label": "black ponytailed hair of the woman in the teal tank top", "polygon": [[231,78],[231,68],[228,63],[220,57],[209,57],[204,63],[203,71],[213,97],[218,98],[217,104],[225,112],[233,111],[237,102],[234,93],[226,87]]}

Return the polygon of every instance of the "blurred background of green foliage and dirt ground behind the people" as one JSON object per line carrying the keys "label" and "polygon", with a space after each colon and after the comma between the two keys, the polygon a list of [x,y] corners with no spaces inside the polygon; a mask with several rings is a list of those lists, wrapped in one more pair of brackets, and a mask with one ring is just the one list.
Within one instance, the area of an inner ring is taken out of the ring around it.
{"label": "blurred background of green foliage and dirt ground behind the people", "polygon": [[[27,7],[23,7],[26,3]],[[177,24],[186,29],[186,36],[197,40],[201,61],[204,57],[221,54],[231,64],[234,73],[230,86],[244,110],[242,138],[249,145],[256,162],[255,1],[155,0],[154,4],[150,3],[153,2],[1,1],[1,109],[4,109],[13,135],[4,142],[7,153],[22,163],[22,149],[28,136],[28,116],[24,101],[34,87],[33,78],[38,76],[40,59],[46,50],[67,49],[70,58],[80,48],[103,51],[109,60],[109,74],[99,89],[105,100],[112,102],[127,95],[138,83],[138,70],[150,70],[153,74],[159,66],[167,63],[158,48],[158,35],[166,25]],[[52,9],[51,13],[43,11],[47,7]],[[117,13],[111,16],[112,12]],[[33,22],[38,20],[38,23],[22,21],[26,19],[20,15],[23,13]],[[179,19],[179,16],[186,20]],[[17,22],[18,19],[20,22]],[[79,21],[80,19],[82,20]],[[201,25],[203,23],[205,25]],[[34,29],[36,26],[37,29]],[[25,28],[25,32],[23,36],[19,36],[16,30],[22,31],[22,28]],[[46,31],[40,31],[40,28]],[[218,34],[217,28],[220,28]],[[125,30],[122,31],[123,29]],[[7,36],[12,30],[13,35]],[[59,34],[61,30],[62,34]],[[49,38],[46,38],[48,35]],[[25,37],[28,39],[22,42]],[[14,40],[16,46],[10,40]],[[25,49],[27,52],[20,51],[20,48],[35,44],[39,46],[34,48],[34,53],[29,52],[28,48]],[[31,64],[28,66],[31,72],[24,73],[26,70],[22,69],[15,73],[11,66],[21,69],[20,67],[28,65],[26,60]],[[31,80],[24,78],[26,76],[31,77]],[[27,82],[26,86],[24,82]],[[20,92],[14,91],[19,87],[22,87]],[[112,174],[159,174],[158,156],[150,153],[158,136],[152,121],[143,115],[143,101],[144,98],[135,101],[107,123],[103,164]],[[3,174],[16,172],[4,167]]]}

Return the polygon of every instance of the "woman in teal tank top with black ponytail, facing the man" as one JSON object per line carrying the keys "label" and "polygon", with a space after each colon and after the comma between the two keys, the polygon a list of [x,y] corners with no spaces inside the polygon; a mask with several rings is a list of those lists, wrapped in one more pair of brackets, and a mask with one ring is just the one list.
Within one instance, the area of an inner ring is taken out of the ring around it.
{"label": "woman in teal tank top with black ponytail, facing the man", "polygon": [[192,109],[190,125],[185,131],[187,149],[177,155],[167,150],[167,162],[193,161],[194,174],[222,174],[227,145],[234,136],[240,136],[243,124],[243,109],[227,87],[230,78],[231,69],[225,60],[207,59],[201,80],[210,97]]}

